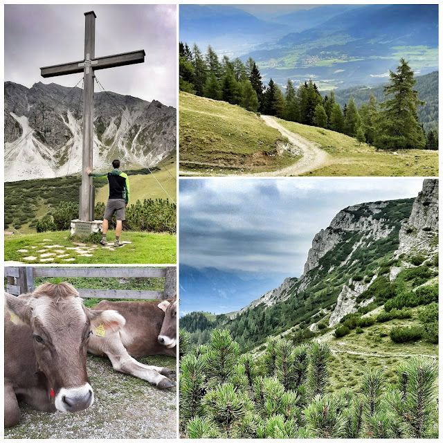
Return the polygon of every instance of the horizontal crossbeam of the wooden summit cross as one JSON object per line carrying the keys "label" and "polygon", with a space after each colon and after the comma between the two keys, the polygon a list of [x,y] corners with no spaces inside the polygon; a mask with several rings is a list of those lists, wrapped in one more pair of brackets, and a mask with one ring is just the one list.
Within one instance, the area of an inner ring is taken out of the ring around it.
{"label": "horizontal crossbeam of the wooden summit cross", "polygon": [[[122,53],[117,55],[108,55],[107,57],[95,58],[98,63],[92,66],[93,70],[113,68],[114,66],[123,66],[126,64],[143,63],[145,61],[145,51],[132,51],[130,53]],[[45,66],[40,68],[42,77],[55,77],[56,75],[68,75],[82,73],[84,66],[78,66],[82,64],[84,60],[78,62],[55,64],[53,66]]]}

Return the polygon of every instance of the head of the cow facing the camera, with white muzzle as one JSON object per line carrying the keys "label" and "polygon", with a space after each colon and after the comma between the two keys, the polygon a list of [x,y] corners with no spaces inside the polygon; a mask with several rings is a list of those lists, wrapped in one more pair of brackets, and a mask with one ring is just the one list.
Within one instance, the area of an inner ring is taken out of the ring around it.
{"label": "head of the cow facing the camera, with white muzzle", "polygon": [[47,377],[57,410],[76,412],[93,404],[86,369],[87,344],[96,329],[116,331],[125,318],[116,311],[91,311],[69,283],[44,283],[24,296],[5,293],[12,322],[28,325],[35,358]]}

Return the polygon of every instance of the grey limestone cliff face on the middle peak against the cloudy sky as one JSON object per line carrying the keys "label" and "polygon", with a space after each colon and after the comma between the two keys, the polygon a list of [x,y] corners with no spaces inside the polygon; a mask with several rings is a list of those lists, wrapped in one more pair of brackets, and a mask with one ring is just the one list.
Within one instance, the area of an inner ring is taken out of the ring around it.
{"label": "grey limestone cliff face on the middle peak against the cloudy sky", "polygon": [[341,210],[331,221],[329,227],[320,230],[314,237],[303,275],[316,268],[323,255],[332,251],[338,243],[343,242],[346,233],[362,233],[362,238],[373,241],[388,237],[394,229],[392,224],[386,223],[383,218],[374,219],[374,215],[380,213],[381,209],[386,206],[386,202],[380,201],[349,206]]}

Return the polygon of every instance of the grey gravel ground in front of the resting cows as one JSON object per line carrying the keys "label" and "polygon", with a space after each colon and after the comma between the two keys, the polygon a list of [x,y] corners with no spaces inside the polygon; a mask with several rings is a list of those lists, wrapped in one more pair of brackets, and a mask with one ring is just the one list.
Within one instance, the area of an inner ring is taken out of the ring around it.
{"label": "grey gravel ground in front of the resting cows", "polygon": [[[173,357],[145,357],[143,363],[175,368]],[[115,372],[108,359],[88,355],[93,406],[80,413],[44,413],[20,404],[21,422],[5,438],[169,438],[177,437],[177,389],[159,390]]]}

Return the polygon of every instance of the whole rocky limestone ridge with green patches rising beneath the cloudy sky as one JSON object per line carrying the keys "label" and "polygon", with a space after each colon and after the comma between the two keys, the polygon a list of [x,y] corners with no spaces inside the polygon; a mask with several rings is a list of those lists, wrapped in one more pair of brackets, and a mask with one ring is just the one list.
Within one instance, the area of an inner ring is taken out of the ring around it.
{"label": "whole rocky limestone ridge with green patches rising beneath the cloudy sky", "polygon": [[[400,266],[392,266],[389,270],[392,282],[401,269],[411,266],[408,261],[411,255],[422,252],[426,257],[433,257],[437,245],[438,180],[429,179],[424,181],[422,191],[413,200],[377,201],[341,210],[331,224],[314,237],[303,275],[287,278],[280,287],[266,292],[240,313],[262,303],[269,307],[284,302],[307,289],[319,296],[322,288],[329,287],[333,292],[336,275],[330,274],[338,271],[338,275],[350,277],[341,285],[329,317],[329,327],[334,327],[343,316],[372,302],[373,298],[357,302],[377,278],[377,262],[370,263],[371,269],[365,267],[370,255],[377,259],[377,253],[386,253],[390,248],[392,255],[403,258]],[[333,257],[338,260],[334,261]]]}

